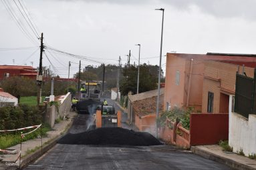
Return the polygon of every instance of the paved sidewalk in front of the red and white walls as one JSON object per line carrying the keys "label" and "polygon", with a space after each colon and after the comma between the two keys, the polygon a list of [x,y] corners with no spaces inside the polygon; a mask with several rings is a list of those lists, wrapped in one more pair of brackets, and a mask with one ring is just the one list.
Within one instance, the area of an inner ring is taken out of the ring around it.
{"label": "paved sidewalk in front of the red and white walls", "polygon": [[219,145],[193,146],[191,151],[207,159],[228,165],[233,169],[256,170],[255,160],[237,155],[236,153],[222,151]]}

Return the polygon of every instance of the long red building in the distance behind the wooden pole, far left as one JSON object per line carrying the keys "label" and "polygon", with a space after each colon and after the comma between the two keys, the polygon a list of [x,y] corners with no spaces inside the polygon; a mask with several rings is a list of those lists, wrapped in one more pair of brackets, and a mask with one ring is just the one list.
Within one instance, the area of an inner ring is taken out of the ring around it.
{"label": "long red building in the distance behind the wooden pole, far left", "polygon": [[0,80],[13,76],[36,79],[37,71],[33,67],[26,65],[0,65]]}

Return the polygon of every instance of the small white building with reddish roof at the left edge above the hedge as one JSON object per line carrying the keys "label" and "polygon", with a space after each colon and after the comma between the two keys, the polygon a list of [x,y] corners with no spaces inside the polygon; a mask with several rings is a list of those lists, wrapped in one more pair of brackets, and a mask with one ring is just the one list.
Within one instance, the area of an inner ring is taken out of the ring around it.
{"label": "small white building with reddish roof at the left edge above the hedge", "polygon": [[4,106],[16,106],[18,104],[18,99],[13,95],[6,93],[0,88],[0,107]]}

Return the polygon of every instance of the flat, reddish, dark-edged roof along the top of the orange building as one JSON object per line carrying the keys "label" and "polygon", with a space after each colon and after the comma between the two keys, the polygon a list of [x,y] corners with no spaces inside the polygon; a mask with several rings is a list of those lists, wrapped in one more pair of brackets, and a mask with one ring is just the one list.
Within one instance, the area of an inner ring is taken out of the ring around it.
{"label": "flat, reddish, dark-edged roof along the top of the orange building", "polygon": [[245,65],[247,67],[256,68],[256,55],[253,54],[231,54],[231,53],[207,53],[205,54],[184,54],[184,53],[168,53],[183,59],[194,60],[213,60],[224,63],[233,63],[236,65]]}

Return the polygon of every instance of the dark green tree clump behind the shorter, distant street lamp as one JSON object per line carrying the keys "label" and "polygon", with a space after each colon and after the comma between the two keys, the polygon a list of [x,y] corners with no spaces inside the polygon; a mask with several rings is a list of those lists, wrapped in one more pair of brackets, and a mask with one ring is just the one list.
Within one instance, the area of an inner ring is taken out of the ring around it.
{"label": "dark green tree clump behind the shorter, distant street lamp", "polygon": [[[157,70],[157,65],[146,65],[146,63],[140,65],[139,93],[156,89],[158,80]],[[122,75],[124,76],[120,81],[120,92],[122,95],[127,95],[129,91],[136,94],[138,67],[134,67],[134,65],[124,67]]]}

